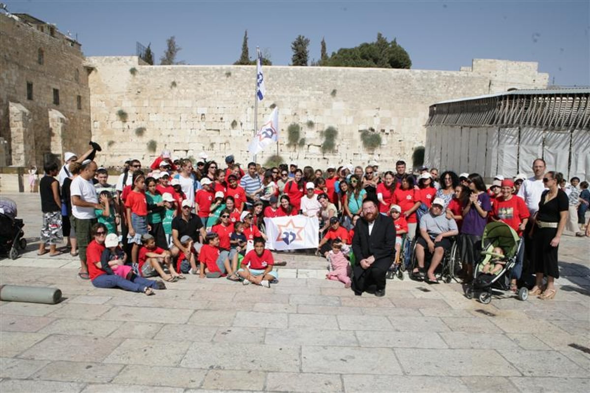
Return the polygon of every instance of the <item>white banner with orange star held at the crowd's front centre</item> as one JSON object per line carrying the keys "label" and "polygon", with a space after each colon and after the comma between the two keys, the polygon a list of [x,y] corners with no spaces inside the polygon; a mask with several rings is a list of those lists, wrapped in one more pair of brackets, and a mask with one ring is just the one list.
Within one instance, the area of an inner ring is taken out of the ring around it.
{"label": "white banner with orange star held at the crowd's front centre", "polygon": [[264,218],[270,250],[299,250],[317,248],[320,222],[317,217],[291,215],[288,217]]}

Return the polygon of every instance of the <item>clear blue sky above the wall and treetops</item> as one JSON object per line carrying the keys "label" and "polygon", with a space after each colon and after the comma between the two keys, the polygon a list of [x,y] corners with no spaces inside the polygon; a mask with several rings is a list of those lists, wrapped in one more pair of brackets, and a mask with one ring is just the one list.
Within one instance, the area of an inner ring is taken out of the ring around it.
{"label": "clear blue sky above the wall and treetops", "polygon": [[156,60],[166,38],[188,64],[231,64],[248,29],[273,64],[291,61],[298,34],[311,40],[310,60],[375,40],[377,32],[404,47],[412,68],[458,70],[472,58],[539,62],[550,83],[590,85],[590,1],[152,1],[2,0],[71,31],[86,55],[132,55],[152,43]]}

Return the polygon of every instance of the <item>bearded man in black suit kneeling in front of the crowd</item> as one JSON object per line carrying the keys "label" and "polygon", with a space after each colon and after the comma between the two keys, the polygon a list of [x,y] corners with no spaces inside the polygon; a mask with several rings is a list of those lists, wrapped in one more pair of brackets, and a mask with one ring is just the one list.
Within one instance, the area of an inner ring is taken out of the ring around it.
{"label": "bearded man in black suit kneeling in front of the crowd", "polygon": [[356,296],[363,292],[385,296],[385,274],[391,266],[395,247],[395,227],[391,218],[379,214],[379,202],[372,198],[363,201],[363,217],[356,222],[352,238],[352,290]]}

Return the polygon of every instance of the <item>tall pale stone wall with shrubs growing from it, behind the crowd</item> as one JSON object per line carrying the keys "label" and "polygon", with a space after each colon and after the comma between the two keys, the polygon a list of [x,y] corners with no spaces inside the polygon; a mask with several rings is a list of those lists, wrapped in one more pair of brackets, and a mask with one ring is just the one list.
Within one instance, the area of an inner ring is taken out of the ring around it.
{"label": "tall pale stone wall with shrubs growing from it, behind the crowd", "polygon": [[[175,158],[197,157],[204,150],[217,160],[233,153],[238,162],[250,161],[254,66],[146,66],[137,57],[89,57],[87,62],[94,68],[89,76],[93,138],[104,146],[99,164],[117,166],[126,158],[147,162],[164,148]],[[537,63],[501,60],[474,60],[461,71],[282,66],[263,71],[266,97],[258,106],[258,124],[278,106],[280,156],[321,167],[371,159],[388,167],[397,159],[411,162],[414,148],[424,145],[431,104],[510,87],[545,88],[548,82]],[[291,123],[301,126],[301,147],[286,144]],[[321,131],[328,126],[339,134],[336,151],[324,155]],[[382,137],[374,151],[360,140],[360,130],[369,127]],[[155,151],[149,151],[150,141]],[[276,152],[269,146],[257,161]]]}

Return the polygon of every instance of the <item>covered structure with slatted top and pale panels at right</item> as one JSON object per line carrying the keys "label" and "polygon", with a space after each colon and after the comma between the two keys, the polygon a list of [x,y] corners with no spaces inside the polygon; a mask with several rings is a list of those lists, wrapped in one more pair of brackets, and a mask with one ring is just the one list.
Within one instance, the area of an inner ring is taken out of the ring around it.
{"label": "covered structure with slatted top and pale panels at right", "polygon": [[532,175],[543,158],[568,178],[590,173],[590,88],[513,90],[430,106],[425,163],[456,172]]}

